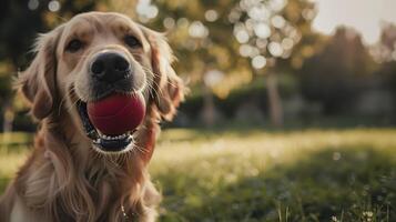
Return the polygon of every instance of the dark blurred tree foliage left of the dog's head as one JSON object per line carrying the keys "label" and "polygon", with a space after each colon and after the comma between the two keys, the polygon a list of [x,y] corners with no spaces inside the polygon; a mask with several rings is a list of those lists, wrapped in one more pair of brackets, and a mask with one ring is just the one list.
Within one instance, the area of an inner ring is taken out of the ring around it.
{"label": "dark blurred tree foliage left of the dog's head", "polygon": [[101,1],[3,0],[0,7],[0,105],[3,130],[11,130],[14,108],[12,78],[27,68],[40,32],[47,32],[75,13],[94,10]]}

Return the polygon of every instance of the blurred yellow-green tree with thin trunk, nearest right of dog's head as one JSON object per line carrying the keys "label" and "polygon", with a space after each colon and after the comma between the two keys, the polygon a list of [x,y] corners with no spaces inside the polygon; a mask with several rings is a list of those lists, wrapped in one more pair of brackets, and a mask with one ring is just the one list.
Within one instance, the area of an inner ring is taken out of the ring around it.
{"label": "blurred yellow-green tree with thin trunk, nearest right of dog's head", "polygon": [[[226,98],[232,89],[252,79],[248,63],[237,56],[233,26],[227,19],[235,2],[159,0],[155,4],[138,4],[141,21],[167,33],[179,58],[177,72],[189,78],[194,92],[203,93],[207,124],[215,119],[213,93]],[[161,13],[155,14],[153,7]]]}

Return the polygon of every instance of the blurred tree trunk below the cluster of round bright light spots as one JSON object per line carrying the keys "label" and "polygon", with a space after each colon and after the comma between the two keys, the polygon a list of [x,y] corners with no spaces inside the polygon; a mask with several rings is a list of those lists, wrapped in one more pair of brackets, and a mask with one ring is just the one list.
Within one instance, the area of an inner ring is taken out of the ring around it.
{"label": "blurred tree trunk below the cluster of round bright light spots", "polygon": [[280,91],[277,89],[276,74],[268,72],[266,77],[266,90],[268,94],[268,110],[271,123],[274,127],[283,125],[283,108]]}

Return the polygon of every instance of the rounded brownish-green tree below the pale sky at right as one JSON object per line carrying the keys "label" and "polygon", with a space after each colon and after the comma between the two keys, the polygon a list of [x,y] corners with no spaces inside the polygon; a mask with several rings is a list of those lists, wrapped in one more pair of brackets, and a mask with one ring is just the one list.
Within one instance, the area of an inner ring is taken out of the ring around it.
{"label": "rounded brownish-green tree below the pale sky at right", "polygon": [[305,98],[322,102],[326,114],[336,114],[367,87],[374,61],[361,36],[341,27],[322,52],[308,59],[302,70]]}

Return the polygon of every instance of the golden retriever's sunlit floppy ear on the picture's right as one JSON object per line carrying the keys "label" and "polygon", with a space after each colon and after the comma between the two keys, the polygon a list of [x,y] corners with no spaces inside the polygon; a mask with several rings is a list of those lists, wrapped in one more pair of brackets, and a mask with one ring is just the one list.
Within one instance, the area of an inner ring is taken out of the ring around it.
{"label": "golden retriever's sunlit floppy ear on the picture's right", "polygon": [[154,73],[152,100],[163,119],[173,119],[176,108],[184,99],[184,82],[171,67],[174,58],[162,33],[142,28],[151,47],[151,64]]}

